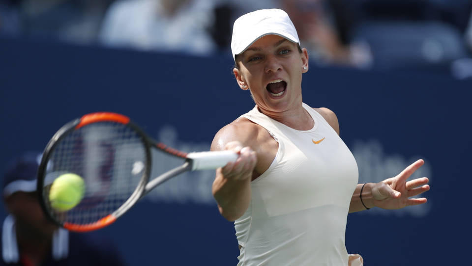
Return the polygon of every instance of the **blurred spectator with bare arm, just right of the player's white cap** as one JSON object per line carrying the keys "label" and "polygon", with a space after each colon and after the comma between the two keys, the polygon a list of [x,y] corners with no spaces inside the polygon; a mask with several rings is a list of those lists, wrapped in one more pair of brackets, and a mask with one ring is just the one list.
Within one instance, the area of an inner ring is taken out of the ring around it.
{"label": "blurred spectator with bare arm, just right of the player's white cap", "polygon": [[320,65],[368,67],[369,47],[351,43],[349,15],[339,0],[282,0],[309,58]]}

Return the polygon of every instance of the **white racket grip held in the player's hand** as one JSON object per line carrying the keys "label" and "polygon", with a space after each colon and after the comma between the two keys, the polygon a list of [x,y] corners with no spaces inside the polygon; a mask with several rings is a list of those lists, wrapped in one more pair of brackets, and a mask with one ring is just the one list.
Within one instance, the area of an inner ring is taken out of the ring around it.
{"label": "white racket grip held in the player's hand", "polygon": [[233,151],[189,153],[187,159],[192,160],[192,171],[216,169],[230,161],[236,161],[237,154]]}

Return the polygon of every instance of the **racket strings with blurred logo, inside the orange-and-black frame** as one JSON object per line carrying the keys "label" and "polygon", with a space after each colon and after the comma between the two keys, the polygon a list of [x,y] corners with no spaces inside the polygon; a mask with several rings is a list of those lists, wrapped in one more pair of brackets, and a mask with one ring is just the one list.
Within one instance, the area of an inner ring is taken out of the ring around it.
{"label": "racket strings with blurred logo, inside the orange-and-black frame", "polygon": [[[63,137],[48,165],[44,198],[50,213],[61,223],[91,224],[115,212],[136,190],[146,170],[146,147],[132,128],[97,122]],[[77,174],[85,182],[83,199],[66,212],[49,202],[49,187],[65,173]]]}

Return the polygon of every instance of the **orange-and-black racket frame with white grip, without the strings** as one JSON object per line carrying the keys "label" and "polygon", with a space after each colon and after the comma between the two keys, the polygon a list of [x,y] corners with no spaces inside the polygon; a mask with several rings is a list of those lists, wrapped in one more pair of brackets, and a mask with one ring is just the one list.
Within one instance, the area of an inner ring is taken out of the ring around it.
{"label": "orange-and-black racket frame with white grip, without the strings", "polygon": [[[67,136],[69,133],[72,133],[74,130],[80,129],[84,126],[96,122],[116,122],[133,129],[141,137],[141,141],[144,144],[144,149],[146,153],[145,171],[143,172],[141,180],[139,181],[138,186],[131,194],[131,196],[113,213],[100,218],[96,222],[89,224],[73,224],[69,222],[61,222],[56,219],[52,213],[50,213],[50,210],[52,210],[52,208],[46,206],[46,203],[49,202],[49,200],[45,198],[46,195],[43,188],[45,185],[44,181],[46,179],[48,161],[52,156],[52,152],[55,150],[57,145],[59,145],[60,141],[65,136]],[[161,150],[169,155],[185,159],[185,162],[181,166],[169,170],[166,173],[149,181],[149,176],[152,167],[151,148],[157,148],[158,150]],[[162,142],[157,142],[154,139],[150,138],[148,134],[146,134],[137,124],[134,124],[127,116],[110,112],[90,113],[65,124],[62,128],[59,129],[56,134],[54,134],[53,138],[49,141],[48,145],[46,146],[43,152],[43,157],[38,168],[37,194],[39,197],[41,208],[43,209],[44,213],[46,213],[46,216],[55,224],[70,231],[88,232],[112,224],[116,221],[118,217],[126,213],[129,209],[131,209],[131,207],[133,207],[136,202],[138,202],[142,197],[148,194],[153,188],[159,186],[165,181],[186,171],[207,170],[223,167],[229,161],[236,161],[237,157],[238,155],[233,151],[185,153],[174,148],[168,147]]]}

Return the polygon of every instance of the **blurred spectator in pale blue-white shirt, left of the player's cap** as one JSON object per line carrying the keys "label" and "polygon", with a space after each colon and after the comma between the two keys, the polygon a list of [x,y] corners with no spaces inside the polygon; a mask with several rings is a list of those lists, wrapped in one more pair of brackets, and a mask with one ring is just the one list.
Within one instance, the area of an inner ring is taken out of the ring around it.
{"label": "blurred spectator in pale blue-white shirt, left of the player's cap", "polygon": [[211,0],[118,0],[109,9],[100,41],[112,47],[208,55],[217,49],[209,28]]}

